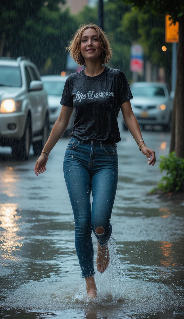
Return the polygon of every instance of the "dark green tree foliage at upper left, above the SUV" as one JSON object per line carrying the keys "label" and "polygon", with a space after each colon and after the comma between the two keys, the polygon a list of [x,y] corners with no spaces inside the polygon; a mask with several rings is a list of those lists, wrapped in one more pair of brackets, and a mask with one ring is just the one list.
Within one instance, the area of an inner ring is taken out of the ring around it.
{"label": "dark green tree foliage at upper left, above the SUV", "polygon": [[27,56],[42,74],[65,70],[65,47],[76,22],[68,9],[60,10],[58,3],[50,0],[45,6],[41,0],[1,0],[1,55]]}

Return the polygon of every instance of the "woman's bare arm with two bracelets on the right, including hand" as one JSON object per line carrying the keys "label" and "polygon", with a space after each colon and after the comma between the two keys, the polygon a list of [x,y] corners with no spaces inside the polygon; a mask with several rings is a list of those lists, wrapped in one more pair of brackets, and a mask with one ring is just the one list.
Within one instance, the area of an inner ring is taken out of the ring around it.
{"label": "woman's bare arm with two bracelets on the right, including hand", "polygon": [[[135,115],[133,114],[130,100],[121,104],[120,108],[121,108],[126,126],[128,127],[129,131],[131,132],[131,135],[135,139],[136,143],[138,143],[138,141],[143,139],[143,137],[141,134],[140,127],[138,125],[138,121],[137,121]],[[144,142],[142,142],[142,141],[139,142],[138,146],[142,145],[143,143]],[[141,147],[141,151],[143,154],[145,154],[147,156],[148,159],[150,158],[150,155],[152,156],[152,159],[149,162],[149,165],[152,164],[152,166],[153,166],[155,164],[155,161],[156,161],[155,152],[152,151],[151,149],[149,149],[148,147],[146,147],[145,145]]]}

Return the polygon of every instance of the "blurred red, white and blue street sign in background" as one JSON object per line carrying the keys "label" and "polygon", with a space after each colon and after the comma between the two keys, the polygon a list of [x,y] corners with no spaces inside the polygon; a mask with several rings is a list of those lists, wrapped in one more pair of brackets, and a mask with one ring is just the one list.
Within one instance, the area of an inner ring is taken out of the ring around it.
{"label": "blurred red, white and blue street sign in background", "polygon": [[143,72],[143,48],[140,44],[131,46],[130,70],[132,72]]}

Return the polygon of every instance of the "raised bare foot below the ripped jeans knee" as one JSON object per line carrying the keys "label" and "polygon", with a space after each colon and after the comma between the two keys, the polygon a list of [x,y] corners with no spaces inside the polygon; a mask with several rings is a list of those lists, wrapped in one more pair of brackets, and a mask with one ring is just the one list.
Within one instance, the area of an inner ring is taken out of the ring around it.
{"label": "raised bare foot below the ripped jeans knee", "polygon": [[96,265],[97,270],[103,272],[109,265],[109,249],[108,245],[101,247],[97,241],[97,256],[96,256]]}

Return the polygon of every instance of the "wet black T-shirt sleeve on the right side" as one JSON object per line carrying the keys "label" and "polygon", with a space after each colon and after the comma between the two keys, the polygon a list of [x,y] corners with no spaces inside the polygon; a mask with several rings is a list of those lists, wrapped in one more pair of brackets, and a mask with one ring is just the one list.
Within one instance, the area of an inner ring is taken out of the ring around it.
{"label": "wet black T-shirt sleeve on the right side", "polygon": [[128,80],[125,77],[124,72],[121,70],[118,74],[118,98],[120,105],[126,101],[133,99]]}

